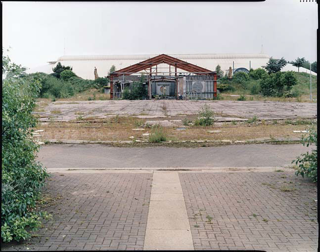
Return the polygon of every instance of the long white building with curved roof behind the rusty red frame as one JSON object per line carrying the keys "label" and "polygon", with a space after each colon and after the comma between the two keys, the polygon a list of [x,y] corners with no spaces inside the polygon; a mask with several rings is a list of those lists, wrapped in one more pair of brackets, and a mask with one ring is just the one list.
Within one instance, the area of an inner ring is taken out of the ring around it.
{"label": "long white building with curved roof behind the rusty red frame", "polygon": [[[108,71],[111,66],[114,65],[116,70],[131,66],[140,61],[155,57],[159,54],[148,54],[148,55],[65,55],[59,57],[56,61],[49,61],[48,65],[29,69],[28,73],[44,72],[52,73],[52,68],[56,66],[58,62],[65,66],[71,66],[73,72],[83,79],[94,79],[94,67],[97,68],[98,75],[104,77],[108,75]],[[269,61],[267,54],[168,54],[169,56],[187,61],[189,63],[201,66],[203,68],[215,71],[217,65],[221,66],[221,69],[226,72],[229,67],[256,69],[265,66]],[[164,65],[164,64],[163,64]],[[158,65],[158,72],[161,72],[162,65]],[[166,66],[167,67],[167,66]],[[282,71],[296,71],[298,68],[288,64]],[[168,70],[166,70],[168,71]],[[300,72],[310,73],[310,70],[300,68]],[[317,75],[316,73],[313,73]]]}

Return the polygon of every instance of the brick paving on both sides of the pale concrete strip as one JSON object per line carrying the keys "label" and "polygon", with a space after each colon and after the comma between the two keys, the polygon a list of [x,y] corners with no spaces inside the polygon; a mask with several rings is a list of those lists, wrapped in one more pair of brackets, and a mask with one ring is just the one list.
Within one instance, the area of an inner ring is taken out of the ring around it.
{"label": "brick paving on both sides of the pale concrete strip", "polygon": [[[53,219],[1,251],[142,250],[152,171],[80,172],[52,173],[44,210]],[[179,180],[195,250],[316,251],[317,188],[293,170],[179,171]]]}

